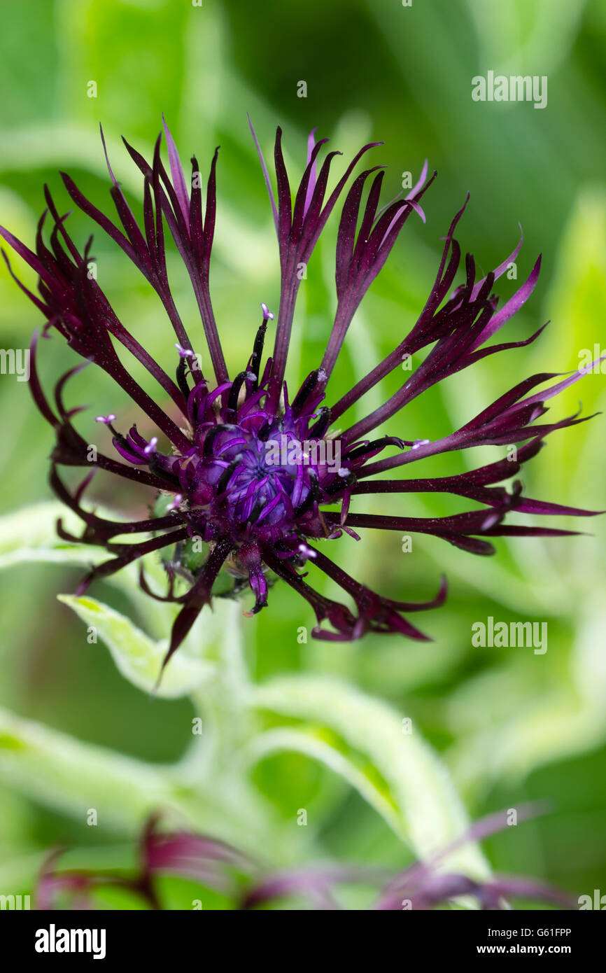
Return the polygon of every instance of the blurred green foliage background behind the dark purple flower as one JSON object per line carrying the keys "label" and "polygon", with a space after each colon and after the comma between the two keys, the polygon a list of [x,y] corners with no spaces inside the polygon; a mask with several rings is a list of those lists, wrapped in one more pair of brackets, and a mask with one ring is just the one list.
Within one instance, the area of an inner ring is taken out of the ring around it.
{"label": "blurred green foliage background behind the dark purple flower", "polygon": [[[374,162],[388,165],[385,200],[402,173],[414,176],[425,158],[439,178],[424,200],[427,224],[411,219],[350,329],[331,394],[359,377],[399,342],[431,286],[440,237],[467,191],[471,201],[457,236],[485,272],[518,238],[518,281],[504,279],[502,301],[525,279],[539,252],[543,270],[532,300],[510,322],[503,340],[551,324],[529,348],[495,356],[422,396],[389,431],[434,439],[466,421],[520,378],[579,365],[583,349],[604,347],[606,317],[606,7],[601,0],[54,0],[0,4],[0,220],[31,242],[49,182],[69,208],[57,174],[66,169],[89,198],[113,211],[98,136],[102,123],[113,168],[133,206],[140,180],[120,142],[148,158],[164,113],[182,159],[196,152],[205,170],[221,144],[218,218],[213,251],[213,301],[228,364],[239,371],[259,321],[259,303],[277,309],[279,275],[267,195],[246,122],[252,116],[270,155],[276,124],[284,128],[287,165],[302,171],[312,126],[344,153],[337,171],[366,140],[385,145]],[[497,73],[547,75],[549,103],[475,103],[471,79]],[[89,82],[96,97],[89,97]],[[298,97],[305,81],[306,97]],[[293,180],[294,180],[293,176]],[[334,311],[336,219],[318,245],[303,282],[288,373],[291,387],[315,367]],[[70,218],[83,244],[92,227]],[[167,371],[173,337],[156,296],[124,255],[94,228],[99,283],[119,316]],[[196,306],[175,256],[170,268],[177,304],[196,350],[203,349]],[[18,262],[16,263],[18,266]],[[20,270],[20,268],[19,268]],[[24,278],[33,283],[26,270]],[[0,345],[26,347],[38,323],[34,308],[0,269]],[[196,336],[196,337],[195,337]],[[197,343],[196,343],[197,342]],[[44,347],[50,383],[73,363],[58,340]],[[472,374],[473,372],[473,374]],[[381,394],[393,390],[392,376]],[[376,390],[368,397],[377,403]],[[89,370],[71,387],[70,402],[91,416],[131,416],[111,383]],[[3,448],[0,503],[10,512],[50,499],[47,457],[52,433],[37,414],[26,383],[0,378]],[[604,408],[604,382],[590,375],[553,401],[550,419]],[[365,402],[366,407],[366,402]],[[92,432],[88,433],[92,436]],[[470,450],[426,461],[418,475],[460,472],[503,454]],[[531,496],[600,509],[606,458],[604,418],[556,432],[523,472]],[[128,516],[147,497],[113,483],[97,499]],[[446,514],[464,505],[443,497],[381,498],[381,510],[411,516]],[[370,502],[363,508],[378,510]],[[538,523],[538,522],[537,522]],[[554,523],[554,522],[545,522]],[[575,523],[558,525],[577,526]],[[413,538],[401,551],[398,533],[345,539],[335,557],[369,586],[393,597],[430,596],[445,571],[449,597],[419,617],[435,641],[369,636],[339,645],[299,644],[312,619],[284,586],[267,611],[244,620],[254,677],[287,670],[335,673],[411,716],[441,752],[471,816],[546,798],[553,813],[488,845],[496,869],[541,876],[573,890],[606,891],[606,609],[605,526],[583,522],[589,536],[497,541],[494,559],[475,559],[435,538]],[[27,522],[23,543],[27,546]],[[30,545],[31,546],[31,545]],[[150,702],[117,671],[101,642],[89,645],[82,622],[56,601],[82,571],[19,561],[9,551],[2,573],[0,703],[73,737],[152,763],[177,759],[190,739],[193,709],[183,701]],[[326,588],[329,591],[329,588]],[[127,610],[114,586],[92,595]],[[475,649],[471,626],[547,621],[549,650]],[[137,620],[143,627],[145,618]],[[61,811],[60,795],[44,803],[35,788],[2,774],[0,759],[0,886],[26,889],[41,852],[57,841],[76,847],[120,845],[138,826],[89,828]],[[315,822],[306,855],[380,862],[398,867],[410,852],[384,821],[332,772],[302,755],[272,756],[256,781],[278,817],[310,809]],[[60,780],[57,780],[60,788]],[[246,844],[246,835],[242,834]]]}

